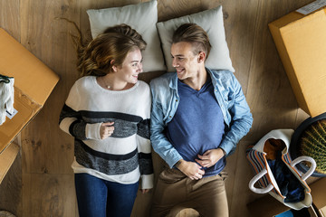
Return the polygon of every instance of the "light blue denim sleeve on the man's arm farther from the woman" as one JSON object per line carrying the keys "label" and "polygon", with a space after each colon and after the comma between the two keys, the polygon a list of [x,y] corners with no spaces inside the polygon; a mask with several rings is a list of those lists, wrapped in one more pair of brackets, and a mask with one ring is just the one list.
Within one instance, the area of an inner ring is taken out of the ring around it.
{"label": "light blue denim sleeve on the man's arm farther from the woman", "polygon": [[[225,71],[224,71],[225,72]],[[228,127],[225,129],[225,137],[223,138],[220,147],[225,150],[226,155],[231,155],[235,152],[236,145],[242,137],[249,132],[253,124],[253,116],[249,106],[245,100],[245,95],[235,75],[228,71],[226,80],[222,80],[219,87],[222,100],[224,101],[225,113],[229,117],[227,121]],[[227,90],[227,91],[225,91]],[[221,104],[221,103],[220,103]]]}

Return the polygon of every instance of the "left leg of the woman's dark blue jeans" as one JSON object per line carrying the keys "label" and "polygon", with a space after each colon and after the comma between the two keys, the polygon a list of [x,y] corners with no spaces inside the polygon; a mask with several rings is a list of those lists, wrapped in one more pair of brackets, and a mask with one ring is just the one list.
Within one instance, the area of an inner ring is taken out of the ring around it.
{"label": "left leg of the woman's dark blue jeans", "polygon": [[103,180],[88,174],[75,174],[80,217],[105,217],[107,187]]}

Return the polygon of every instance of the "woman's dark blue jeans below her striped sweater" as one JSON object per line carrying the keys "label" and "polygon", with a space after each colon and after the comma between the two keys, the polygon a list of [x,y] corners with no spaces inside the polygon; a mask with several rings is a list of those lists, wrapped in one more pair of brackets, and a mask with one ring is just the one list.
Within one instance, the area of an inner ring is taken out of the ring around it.
{"label": "woman's dark blue jeans below her striped sweater", "polygon": [[80,217],[129,217],[139,182],[118,184],[93,175],[75,174]]}

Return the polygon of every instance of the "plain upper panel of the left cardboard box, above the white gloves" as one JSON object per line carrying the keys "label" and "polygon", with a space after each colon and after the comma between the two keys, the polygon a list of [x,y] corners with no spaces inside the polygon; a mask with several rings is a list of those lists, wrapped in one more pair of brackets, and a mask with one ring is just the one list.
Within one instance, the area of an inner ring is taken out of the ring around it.
{"label": "plain upper panel of the left cardboard box, above the white gloves", "polygon": [[58,75],[1,28],[0,51],[0,74],[14,77],[14,87],[43,106]]}

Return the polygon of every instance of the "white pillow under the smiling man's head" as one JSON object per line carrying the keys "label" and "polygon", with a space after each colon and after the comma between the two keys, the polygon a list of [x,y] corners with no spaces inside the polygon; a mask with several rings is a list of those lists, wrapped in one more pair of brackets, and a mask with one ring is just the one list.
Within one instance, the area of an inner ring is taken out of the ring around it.
{"label": "white pillow under the smiling man's head", "polygon": [[157,24],[158,35],[162,43],[168,71],[176,71],[176,69],[172,67],[171,59],[172,35],[177,30],[178,26],[185,23],[198,24],[208,34],[212,48],[206,60],[205,65],[207,68],[235,72],[235,69],[232,67],[229,50],[225,41],[222,6]]}

